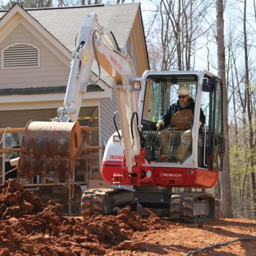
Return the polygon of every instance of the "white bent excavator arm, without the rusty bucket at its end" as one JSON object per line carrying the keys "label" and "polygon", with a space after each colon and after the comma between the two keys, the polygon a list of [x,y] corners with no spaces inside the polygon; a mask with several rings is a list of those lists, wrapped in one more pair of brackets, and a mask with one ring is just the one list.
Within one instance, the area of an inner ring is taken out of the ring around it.
{"label": "white bent excavator arm, without the rusty bucket at its end", "polygon": [[132,116],[135,112],[139,114],[139,109],[138,92],[133,83],[135,71],[124,49],[120,51],[113,34],[98,24],[97,14],[87,14],[81,27],[79,42],[72,52],[73,61],[64,108],[59,108],[57,112],[60,121],[77,120],[87,86],[97,83],[99,79],[98,77],[97,81],[90,82],[94,57],[99,67],[99,76],[101,66],[114,80],[126,166],[131,173],[133,158],[140,153],[139,134],[135,133],[132,138],[131,133]]}

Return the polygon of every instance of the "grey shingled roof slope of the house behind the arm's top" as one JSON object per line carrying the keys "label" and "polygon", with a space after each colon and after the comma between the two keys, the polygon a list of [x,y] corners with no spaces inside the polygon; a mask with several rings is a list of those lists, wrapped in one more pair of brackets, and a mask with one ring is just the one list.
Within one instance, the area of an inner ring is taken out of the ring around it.
{"label": "grey shingled roof slope of the house behind the arm's top", "polygon": [[[132,30],[139,3],[25,9],[69,51],[74,48],[75,35],[87,13],[97,13],[99,24],[111,30],[119,46],[125,46]],[[0,11],[0,19],[8,11]]]}

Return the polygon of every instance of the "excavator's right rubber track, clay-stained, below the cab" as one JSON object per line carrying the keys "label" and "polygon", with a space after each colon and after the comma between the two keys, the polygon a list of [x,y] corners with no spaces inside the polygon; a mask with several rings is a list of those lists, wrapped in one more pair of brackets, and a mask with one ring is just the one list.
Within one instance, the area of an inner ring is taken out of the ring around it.
{"label": "excavator's right rubber track, clay-stained, below the cab", "polygon": [[[214,212],[210,212],[212,217],[195,218],[194,216],[194,202],[197,197],[211,196],[210,194],[201,192],[183,192],[174,194],[170,200],[170,219],[177,222],[185,223],[199,223],[212,219]],[[212,197],[212,196],[211,196]],[[210,202],[208,202],[210,204]],[[214,206],[213,206],[214,208]]]}

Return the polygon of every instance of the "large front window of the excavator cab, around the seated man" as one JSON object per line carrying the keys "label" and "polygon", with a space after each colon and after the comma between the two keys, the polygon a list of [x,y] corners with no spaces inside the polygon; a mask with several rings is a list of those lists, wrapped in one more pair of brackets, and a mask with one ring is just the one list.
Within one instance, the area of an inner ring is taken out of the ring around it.
{"label": "large front window of the excavator cab, around the seated man", "polygon": [[[148,162],[180,164],[191,156],[192,140],[189,128],[169,127],[157,131],[156,122],[171,104],[178,101],[177,91],[186,86],[190,98],[196,98],[197,76],[168,75],[150,77],[146,83],[142,113],[143,137]],[[191,112],[191,111],[190,111]],[[183,112],[184,113],[184,112]],[[193,113],[191,112],[191,115]],[[192,117],[194,119],[194,115]],[[188,119],[188,118],[185,118]],[[165,126],[169,125],[168,123]]]}

